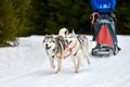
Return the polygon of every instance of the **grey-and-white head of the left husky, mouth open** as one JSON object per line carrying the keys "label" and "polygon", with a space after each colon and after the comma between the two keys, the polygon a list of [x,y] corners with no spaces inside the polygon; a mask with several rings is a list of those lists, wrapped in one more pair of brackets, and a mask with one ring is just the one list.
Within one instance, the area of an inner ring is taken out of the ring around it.
{"label": "grey-and-white head of the left husky, mouth open", "polygon": [[55,39],[53,35],[46,35],[43,39],[43,46],[46,50],[53,50],[56,47]]}

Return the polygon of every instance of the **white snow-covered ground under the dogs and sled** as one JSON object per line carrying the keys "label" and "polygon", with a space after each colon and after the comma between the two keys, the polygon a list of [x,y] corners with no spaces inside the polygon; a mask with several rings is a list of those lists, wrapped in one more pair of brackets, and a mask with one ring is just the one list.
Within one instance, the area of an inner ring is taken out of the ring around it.
{"label": "white snow-covered ground under the dogs and sled", "polygon": [[118,36],[117,55],[91,57],[79,73],[66,58],[58,74],[50,67],[43,38],[21,37],[17,47],[0,48],[0,87],[130,87],[130,36]]}

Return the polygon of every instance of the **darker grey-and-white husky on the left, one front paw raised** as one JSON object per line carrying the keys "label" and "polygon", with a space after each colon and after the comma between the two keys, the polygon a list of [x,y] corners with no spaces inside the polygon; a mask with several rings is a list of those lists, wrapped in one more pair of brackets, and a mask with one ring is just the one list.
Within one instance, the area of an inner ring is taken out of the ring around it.
{"label": "darker grey-and-white husky on the left, one front paw raised", "polygon": [[52,69],[55,69],[54,60],[57,60],[57,70],[55,73],[58,73],[62,67],[62,59],[64,58],[63,54],[65,50],[65,41],[63,37],[54,36],[54,35],[46,35],[43,39],[43,45]]}

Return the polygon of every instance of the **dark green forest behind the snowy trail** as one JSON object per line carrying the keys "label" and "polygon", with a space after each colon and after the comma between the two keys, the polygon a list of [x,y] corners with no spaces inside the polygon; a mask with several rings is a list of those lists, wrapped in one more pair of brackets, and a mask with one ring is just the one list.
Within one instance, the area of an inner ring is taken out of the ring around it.
{"label": "dark green forest behind the snowy trail", "polygon": [[[130,35],[130,1],[117,0],[118,35]],[[92,35],[90,0],[0,0],[0,47],[16,37],[57,34],[60,28]]]}

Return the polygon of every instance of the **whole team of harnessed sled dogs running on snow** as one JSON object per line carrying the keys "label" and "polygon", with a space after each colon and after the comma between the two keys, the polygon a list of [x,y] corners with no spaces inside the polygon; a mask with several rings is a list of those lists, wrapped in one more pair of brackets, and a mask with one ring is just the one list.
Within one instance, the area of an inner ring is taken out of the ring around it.
{"label": "whole team of harnessed sled dogs running on snow", "polygon": [[[68,33],[67,28],[62,28],[58,35],[46,35],[43,47],[49,57],[52,69],[56,67],[58,73],[62,70],[62,61],[65,58],[72,58],[75,72],[78,73],[84,57],[90,64],[89,51],[92,49],[92,42],[84,35],[76,35],[75,32]],[[56,61],[56,65],[54,64]]]}

